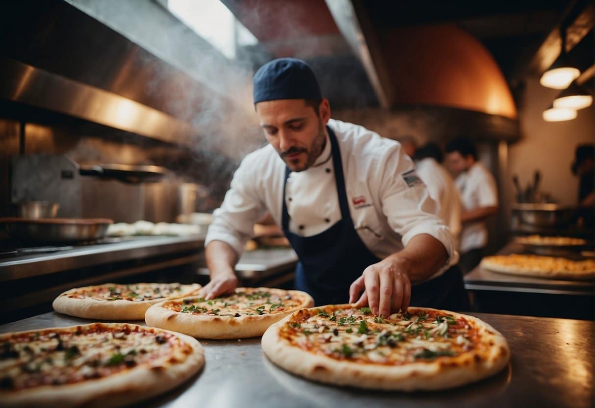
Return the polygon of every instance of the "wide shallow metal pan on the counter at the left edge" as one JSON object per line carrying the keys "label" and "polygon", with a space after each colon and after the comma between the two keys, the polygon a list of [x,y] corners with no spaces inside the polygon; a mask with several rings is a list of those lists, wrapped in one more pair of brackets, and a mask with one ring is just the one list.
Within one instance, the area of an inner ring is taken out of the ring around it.
{"label": "wide shallow metal pan on the counter at the left edge", "polygon": [[44,243],[98,240],[105,237],[113,222],[107,218],[0,218],[0,225],[12,238]]}

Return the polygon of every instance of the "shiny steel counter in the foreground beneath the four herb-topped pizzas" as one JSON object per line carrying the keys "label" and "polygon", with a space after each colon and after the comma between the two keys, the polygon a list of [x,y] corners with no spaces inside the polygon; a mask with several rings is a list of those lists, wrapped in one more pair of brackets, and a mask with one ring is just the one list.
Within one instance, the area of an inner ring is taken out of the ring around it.
{"label": "shiny steel counter in the foreground beneath the four herb-topped pizzas", "polygon": [[[247,407],[588,407],[593,402],[593,322],[473,313],[502,332],[511,364],[499,374],[450,391],[391,393],[316,384],[287,374],[262,354],[260,339],[201,341],[205,369],[148,406]],[[45,313],[0,332],[90,321]],[[143,404],[143,406],[147,406]]]}

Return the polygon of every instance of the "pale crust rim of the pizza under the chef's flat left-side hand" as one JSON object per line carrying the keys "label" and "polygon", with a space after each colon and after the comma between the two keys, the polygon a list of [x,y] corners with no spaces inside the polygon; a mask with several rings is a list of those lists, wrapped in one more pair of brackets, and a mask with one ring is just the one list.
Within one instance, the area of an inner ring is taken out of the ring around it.
{"label": "pale crust rim of the pizza under the chef's flat left-side hand", "polygon": [[[274,291],[279,289],[258,288],[259,290]],[[248,338],[261,336],[271,324],[280,321],[303,307],[314,306],[314,299],[302,291],[284,290],[292,296],[302,299],[300,305],[270,315],[252,316],[205,316],[180,313],[162,307],[168,300],[149,307],[145,313],[145,322],[149,326],[161,327],[177,331],[196,338]],[[181,299],[178,299],[181,300]]]}

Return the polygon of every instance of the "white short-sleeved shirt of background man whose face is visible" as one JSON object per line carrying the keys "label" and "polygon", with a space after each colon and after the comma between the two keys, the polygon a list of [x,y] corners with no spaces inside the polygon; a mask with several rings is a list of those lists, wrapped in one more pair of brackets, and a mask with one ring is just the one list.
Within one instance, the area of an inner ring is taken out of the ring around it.
{"label": "white short-sleeved shirt of background man whose face is visible", "polygon": [[[496,180],[480,162],[475,162],[469,170],[459,174],[455,184],[461,192],[461,202],[465,211],[498,205]],[[461,253],[483,248],[486,244],[486,221],[466,222],[463,225]]]}

